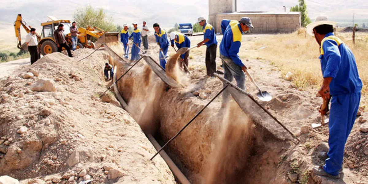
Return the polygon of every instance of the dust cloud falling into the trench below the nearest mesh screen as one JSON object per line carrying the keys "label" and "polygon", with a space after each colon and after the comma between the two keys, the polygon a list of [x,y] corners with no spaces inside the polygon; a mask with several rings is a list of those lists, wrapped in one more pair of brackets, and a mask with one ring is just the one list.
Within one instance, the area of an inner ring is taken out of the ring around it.
{"label": "dust cloud falling into the trench below the nearest mesh screen", "polygon": [[203,184],[244,183],[244,170],[251,150],[251,120],[235,102],[227,105],[215,149],[209,157]]}

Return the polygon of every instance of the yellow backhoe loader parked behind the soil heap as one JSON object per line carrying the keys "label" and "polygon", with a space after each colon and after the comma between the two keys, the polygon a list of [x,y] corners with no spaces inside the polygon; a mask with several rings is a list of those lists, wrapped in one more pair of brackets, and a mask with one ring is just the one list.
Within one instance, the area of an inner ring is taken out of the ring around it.
{"label": "yellow backhoe loader parked behind the soil heap", "polygon": [[[54,39],[54,31],[57,29],[59,24],[64,25],[64,35],[65,39],[68,42],[68,45],[71,46],[71,36],[70,36],[70,20],[58,20],[55,17],[47,16],[50,18],[50,21],[41,23],[42,31],[41,36],[36,33],[38,39],[38,49],[42,53],[42,55],[50,54],[53,52],[57,52],[57,46]],[[21,32],[20,27],[23,26],[27,33],[30,32],[32,26],[28,25],[26,21],[22,18],[21,14],[18,14],[17,19],[14,22],[15,36],[18,39],[17,47],[19,49],[28,50],[28,47],[25,43],[21,43]],[[78,43],[77,49],[87,47],[87,48],[95,48],[95,44],[91,41],[91,38],[99,38],[101,35],[106,33],[97,27],[87,27],[87,28],[78,28]]]}

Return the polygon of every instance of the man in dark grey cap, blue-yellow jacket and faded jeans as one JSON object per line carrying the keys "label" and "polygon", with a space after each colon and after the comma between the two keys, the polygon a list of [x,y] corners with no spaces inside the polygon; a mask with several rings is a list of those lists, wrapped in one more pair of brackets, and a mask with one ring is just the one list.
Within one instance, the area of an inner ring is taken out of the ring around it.
{"label": "man in dark grey cap, blue-yellow jacket and faded jeans", "polygon": [[[237,86],[241,89],[245,89],[244,72],[247,67],[240,60],[238,52],[241,46],[242,34],[248,31],[249,28],[253,29],[254,27],[248,17],[243,17],[240,21],[227,19],[221,21],[223,37],[220,43],[220,59],[224,68],[224,78],[230,82],[235,78]],[[225,90],[222,95],[222,107],[224,107],[229,101],[229,92]]]}

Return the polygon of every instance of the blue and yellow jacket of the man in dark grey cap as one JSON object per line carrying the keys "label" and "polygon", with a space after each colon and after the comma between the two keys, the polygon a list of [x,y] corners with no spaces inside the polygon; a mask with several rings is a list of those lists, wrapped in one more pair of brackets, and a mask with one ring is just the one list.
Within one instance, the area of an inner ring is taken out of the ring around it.
{"label": "blue and yellow jacket of the man in dark grey cap", "polygon": [[[223,31],[223,28],[226,29]],[[236,65],[243,67],[244,64],[238,55],[243,34],[239,21],[224,19],[221,22],[221,30],[223,31],[223,37],[220,44],[220,54],[231,58]]]}

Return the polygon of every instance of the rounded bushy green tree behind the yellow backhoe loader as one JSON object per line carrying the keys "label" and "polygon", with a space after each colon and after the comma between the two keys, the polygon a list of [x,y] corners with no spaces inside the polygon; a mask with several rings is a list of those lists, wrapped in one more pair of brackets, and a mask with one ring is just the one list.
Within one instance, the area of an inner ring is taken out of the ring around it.
{"label": "rounded bushy green tree behind the yellow backhoe loader", "polygon": [[116,31],[113,18],[107,16],[102,8],[94,9],[91,5],[79,8],[74,12],[73,18],[83,28],[97,26],[105,31]]}

